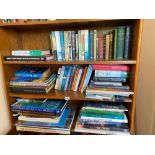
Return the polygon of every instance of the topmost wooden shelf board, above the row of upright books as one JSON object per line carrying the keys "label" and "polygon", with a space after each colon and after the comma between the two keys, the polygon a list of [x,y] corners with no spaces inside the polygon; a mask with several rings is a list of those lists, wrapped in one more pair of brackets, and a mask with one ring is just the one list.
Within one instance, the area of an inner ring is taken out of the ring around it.
{"label": "topmost wooden shelf board, above the row of upright books", "polygon": [[135,20],[130,19],[58,19],[48,21],[28,21],[28,22],[17,22],[17,23],[0,23],[0,28],[52,28],[57,26],[86,26],[92,24],[92,26],[109,26],[119,24],[133,23]]}

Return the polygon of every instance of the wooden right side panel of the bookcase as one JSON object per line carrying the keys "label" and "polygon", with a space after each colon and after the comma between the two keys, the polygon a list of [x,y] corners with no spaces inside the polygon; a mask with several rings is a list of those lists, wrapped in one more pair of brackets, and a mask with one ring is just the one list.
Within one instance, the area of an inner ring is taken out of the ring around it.
{"label": "wooden right side panel of the bookcase", "polygon": [[129,117],[130,117],[130,131],[131,134],[136,134],[136,95],[137,95],[137,80],[138,80],[138,70],[139,70],[139,58],[141,50],[141,37],[142,37],[142,28],[143,20],[136,20],[134,23],[134,32],[133,32],[133,42],[132,42],[132,58],[136,60],[136,65],[132,65],[131,68],[131,77],[130,77],[130,86],[134,91],[132,97],[133,102],[132,106],[129,106]]}

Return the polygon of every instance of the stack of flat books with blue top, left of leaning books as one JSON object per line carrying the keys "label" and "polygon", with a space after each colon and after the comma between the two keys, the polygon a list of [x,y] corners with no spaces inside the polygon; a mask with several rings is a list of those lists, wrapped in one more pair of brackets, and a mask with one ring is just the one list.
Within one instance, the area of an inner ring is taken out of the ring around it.
{"label": "stack of flat books with blue top, left of leaning books", "polygon": [[22,67],[10,80],[12,93],[46,94],[55,86],[56,73],[47,67]]}

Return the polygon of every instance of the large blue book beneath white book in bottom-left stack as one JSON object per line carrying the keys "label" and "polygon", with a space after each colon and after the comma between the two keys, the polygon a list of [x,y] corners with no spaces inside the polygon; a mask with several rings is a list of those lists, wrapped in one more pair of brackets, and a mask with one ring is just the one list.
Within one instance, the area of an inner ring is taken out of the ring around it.
{"label": "large blue book beneath white book in bottom-left stack", "polygon": [[58,123],[45,123],[45,122],[28,122],[28,121],[19,121],[17,122],[17,126],[35,126],[35,127],[56,127],[56,128],[63,128],[65,126],[66,120],[71,112],[71,109],[65,108],[61,118]]}

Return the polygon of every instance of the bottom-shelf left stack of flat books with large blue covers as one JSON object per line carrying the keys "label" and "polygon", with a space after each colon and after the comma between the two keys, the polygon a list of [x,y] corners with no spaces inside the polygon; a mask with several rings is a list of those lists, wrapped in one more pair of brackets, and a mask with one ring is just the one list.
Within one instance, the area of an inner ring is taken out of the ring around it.
{"label": "bottom-shelf left stack of flat books with large blue covers", "polygon": [[17,99],[11,105],[18,113],[17,131],[70,134],[75,111],[67,107],[65,100]]}

